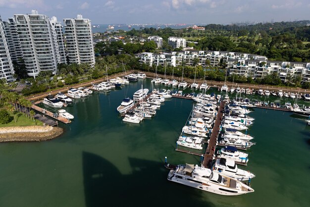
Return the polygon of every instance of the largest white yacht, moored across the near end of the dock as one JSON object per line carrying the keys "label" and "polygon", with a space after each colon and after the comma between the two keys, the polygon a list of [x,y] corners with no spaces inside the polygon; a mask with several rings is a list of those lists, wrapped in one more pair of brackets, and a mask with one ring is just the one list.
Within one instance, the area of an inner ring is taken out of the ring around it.
{"label": "largest white yacht, moored across the near end of the dock", "polygon": [[[169,164],[167,167],[169,168]],[[171,167],[168,180],[203,191],[224,196],[237,196],[252,193],[254,190],[246,184],[228,176],[219,175],[205,167],[193,164]]]}

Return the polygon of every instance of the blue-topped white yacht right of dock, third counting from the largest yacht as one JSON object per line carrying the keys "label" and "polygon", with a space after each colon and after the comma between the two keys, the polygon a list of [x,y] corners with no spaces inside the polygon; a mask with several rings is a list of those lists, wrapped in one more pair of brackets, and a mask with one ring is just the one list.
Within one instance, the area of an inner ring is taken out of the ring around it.
{"label": "blue-topped white yacht right of dock, third counting from the largest yacht", "polygon": [[237,162],[248,163],[248,154],[239,152],[236,147],[226,146],[217,151],[218,157],[232,159]]}

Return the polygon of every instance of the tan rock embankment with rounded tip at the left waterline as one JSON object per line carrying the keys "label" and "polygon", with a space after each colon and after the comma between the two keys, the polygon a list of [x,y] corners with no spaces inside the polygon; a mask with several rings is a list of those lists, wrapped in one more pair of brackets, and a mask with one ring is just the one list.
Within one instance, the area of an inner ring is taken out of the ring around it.
{"label": "tan rock embankment with rounded tip at the left waterline", "polygon": [[52,126],[1,127],[0,142],[40,142],[62,133],[62,128]]}

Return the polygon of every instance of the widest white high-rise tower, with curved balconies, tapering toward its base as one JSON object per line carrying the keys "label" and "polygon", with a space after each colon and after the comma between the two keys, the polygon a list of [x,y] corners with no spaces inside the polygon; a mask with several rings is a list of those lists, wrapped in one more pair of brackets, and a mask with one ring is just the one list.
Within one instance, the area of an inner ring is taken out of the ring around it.
{"label": "widest white high-rise tower, with curved balconies, tapering toward its base", "polygon": [[14,18],[28,75],[35,77],[41,71],[55,74],[61,62],[55,55],[57,41],[53,41],[48,16],[32,10],[31,14],[15,14]]}

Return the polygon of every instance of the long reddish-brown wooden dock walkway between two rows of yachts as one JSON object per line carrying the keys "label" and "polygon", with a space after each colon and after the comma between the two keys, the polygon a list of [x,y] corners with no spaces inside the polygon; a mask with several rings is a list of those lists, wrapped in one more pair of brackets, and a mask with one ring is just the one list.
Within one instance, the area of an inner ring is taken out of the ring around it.
{"label": "long reddish-brown wooden dock walkway between two rows of yachts", "polygon": [[219,128],[220,128],[220,125],[222,122],[223,110],[224,110],[225,103],[226,102],[221,102],[220,106],[218,107],[217,116],[216,116],[216,119],[214,122],[214,126],[213,126],[212,133],[210,136],[209,144],[207,146],[207,150],[206,150],[205,157],[204,157],[203,165],[205,167],[211,167],[210,164],[212,162],[213,155],[215,153],[216,142],[217,142],[217,137],[219,134]]}

